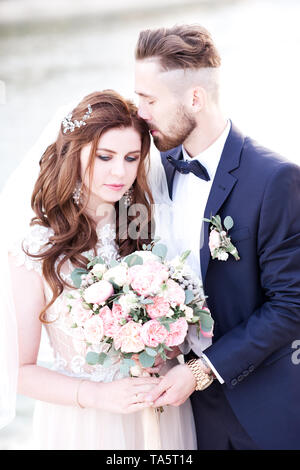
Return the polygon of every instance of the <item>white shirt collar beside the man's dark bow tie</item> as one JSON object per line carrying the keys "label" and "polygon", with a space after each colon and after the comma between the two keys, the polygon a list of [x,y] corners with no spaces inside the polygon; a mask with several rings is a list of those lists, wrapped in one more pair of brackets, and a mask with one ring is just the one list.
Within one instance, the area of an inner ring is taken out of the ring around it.
{"label": "white shirt collar beside the man's dark bow tie", "polygon": [[230,132],[231,122],[230,120],[227,121],[227,125],[223,130],[222,134],[215,140],[207,149],[203,152],[199,153],[195,157],[191,158],[185,148],[182,145],[182,153],[183,159],[185,161],[192,161],[192,160],[199,160],[202,165],[205,166],[209,177],[213,180],[215,173],[217,171],[217,167],[223,152],[223,148]]}

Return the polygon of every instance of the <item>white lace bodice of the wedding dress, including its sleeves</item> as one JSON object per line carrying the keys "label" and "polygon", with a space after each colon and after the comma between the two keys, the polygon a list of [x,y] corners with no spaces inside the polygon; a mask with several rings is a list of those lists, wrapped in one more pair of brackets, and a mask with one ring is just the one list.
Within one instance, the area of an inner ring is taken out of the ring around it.
{"label": "white lace bodice of the wedding dress, including its sleeves", "polygon": [[[25,238],[15,243],[10,251],[16,257],[18,266],[24,265],[28,270],[35,270],[43,280],[44,294],[47,303],[52,298],[52,291],[46,280],[42,276],[42,262],[27,256],[22,250],[22,244],[26,251],[32,254],[42,253],[49,238],[54,234],[51,228],[35,225],[30,227]],[[106,263],[118,258],[118,250],[115,243],[115,228],[111,224],[106,224],[97,229],[98,242],[96,245],[97,256],[101,256]],[[93,256],[93,250],[83,253],[84,256]],[[57,260],[57,264],[61,258]],[[61,275],[65,281],[72,284],[71,273],[74,266],[70,261],[62,267]],[[65,287],[63,293],[56,299],[54,304],[48,308],[46,313],[47,324],[44,324],[46,332],[53,350],[54,363],[52,369],[60,371],[67,375],[86,377],[95,381],[110,382],[121,378],[120,363],[118,358],[111,357],[109,367],[100,364],[90,366],[86,362],[86,354],[89,350],[104,351],[106,344],[99,346],[87,345],[83,339],[82,330],[73,328],[68,321],[67,315],[67,296],[70,291]],[[37,312],[38,315],[38,312]]]}

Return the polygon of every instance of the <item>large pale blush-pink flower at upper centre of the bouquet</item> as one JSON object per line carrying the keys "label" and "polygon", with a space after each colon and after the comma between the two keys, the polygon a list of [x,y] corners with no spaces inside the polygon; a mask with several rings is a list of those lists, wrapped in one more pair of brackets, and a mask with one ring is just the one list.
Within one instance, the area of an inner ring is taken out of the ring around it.
{"label": "large pale blush-pink flower at upper centre of the bouquet", "polygon": [[168,279],[168,269],[158,261],[147,261],[128,270],[128,281],[140,295],[151,295]]}

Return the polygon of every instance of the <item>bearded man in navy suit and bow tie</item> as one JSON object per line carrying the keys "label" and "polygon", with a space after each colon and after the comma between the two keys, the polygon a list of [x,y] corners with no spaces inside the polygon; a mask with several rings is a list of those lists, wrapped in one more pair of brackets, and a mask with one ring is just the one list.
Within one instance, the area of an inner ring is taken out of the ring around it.
{"label": "bearded man in navy suit and bow tie", "polygon": [[[215,321],[204,354],[191,332],[185,364],[149,400],[190,396],[198,449],[299,449],[300,169],[222,115],[220,62],[195,25],[143,31],[136,47],[139,115],[161,151],[174,243],[184,226],[178,252],[192,249]],[[233,219],[239,260],[212,259],[202,220],[215,215]]]}

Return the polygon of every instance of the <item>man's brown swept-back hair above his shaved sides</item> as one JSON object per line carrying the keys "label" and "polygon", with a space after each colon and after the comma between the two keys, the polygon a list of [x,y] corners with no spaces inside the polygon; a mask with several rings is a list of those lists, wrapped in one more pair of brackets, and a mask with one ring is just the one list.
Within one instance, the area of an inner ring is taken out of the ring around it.
{"label": "man's brown swept-back hair above his shaved sides", "polygon": [[141,31],[135,58],[156,58],[164,71],[216,68],[221,65],[210,33],[197,24]]}

